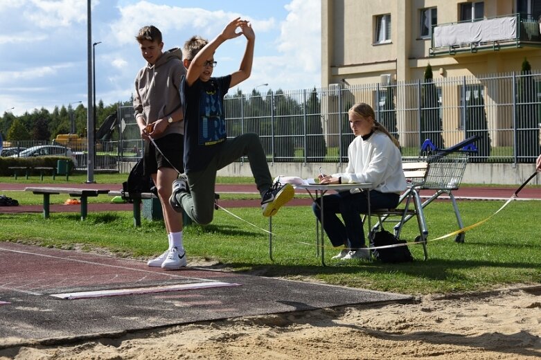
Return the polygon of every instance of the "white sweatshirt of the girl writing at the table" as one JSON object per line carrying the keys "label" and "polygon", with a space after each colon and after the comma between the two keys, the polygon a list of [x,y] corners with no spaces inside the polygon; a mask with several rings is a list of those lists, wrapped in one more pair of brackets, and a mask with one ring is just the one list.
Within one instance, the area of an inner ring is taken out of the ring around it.
{"label": "white sweatshirt of the girl writing at the table", "polygon": [[332,174],[342,177],[342,183],[373,183],[373,190],[398,194],[406,190],[402,155],[387,134],[374,132],[366,141],[355,137],[348,147],[348,160],[346,172]]}

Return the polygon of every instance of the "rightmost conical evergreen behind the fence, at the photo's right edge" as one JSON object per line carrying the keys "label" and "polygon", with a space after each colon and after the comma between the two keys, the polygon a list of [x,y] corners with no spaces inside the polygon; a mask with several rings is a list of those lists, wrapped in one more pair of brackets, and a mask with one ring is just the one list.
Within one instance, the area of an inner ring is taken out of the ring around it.
{"label": "rightmost conical evergreen behind the fence, at the photo's right edge", "polygon": [[536,84],[526,57],[522,62],[517,89],[516,143],[517,162],[531,163],[539,155],[539,126]]}

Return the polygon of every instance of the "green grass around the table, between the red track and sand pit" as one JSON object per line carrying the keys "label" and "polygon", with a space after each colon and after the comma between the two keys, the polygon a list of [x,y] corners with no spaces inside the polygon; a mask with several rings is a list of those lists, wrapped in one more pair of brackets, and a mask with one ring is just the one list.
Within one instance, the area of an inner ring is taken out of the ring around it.
{"label": "green grass around the table, between the red track and sand pit", "polygon": [[[99,197],[98,197],[99,198]],[[504,201],[461,201],[466,226],[492,215]],[[236,271],[254,271],[265,276],[328,282],[407,294],[477,291],[512,284],[541,281],[541,204],[512,201],[504,210],[465,234],[465,243],[454,237],[429,242],[429,260],[421,246],[410,246],[416,259],[407,264],[340,262],[326,240],[326,263],[315,256],[314,215],[311,209],[285,207],[273,218],[274,262],[269,260],[268,221],[256,208],[228,209],[254,226],[223,210],[215,212],[209,226],[186,226],[184,244],[190,258],[206,258]],[[131,212],[89,213],[85,221],[78,213],[0,215],[0,241],[25,242],[63,249],[107,249],[119,256],[150,258],[166,246],[163,222],[143,220],[134,228]],[[426,208],[429,240],[456,230],[452,206],[434,201]],[[417,235],[415,221],[402,233],[406,240]]]}

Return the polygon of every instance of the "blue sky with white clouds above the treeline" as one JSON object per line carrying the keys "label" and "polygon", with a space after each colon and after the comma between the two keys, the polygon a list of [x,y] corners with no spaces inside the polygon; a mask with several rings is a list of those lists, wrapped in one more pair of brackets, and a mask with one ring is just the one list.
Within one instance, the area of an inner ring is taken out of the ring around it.
{"label": "blue sky with white clouds above the treeline", "polygon": [[[0,116],[87,107],[87,0],[0,0],[0,9]],[[213,39],[236,17],[256,33],[251,77],[238,88],[321,87],[321,0],[91,0],[96,102],[130,100],[145,65],[142,26],[157,26],[167,50],[193,35]],[[214,74],[236,71],[245,46],[242,36],[222,44]]]}

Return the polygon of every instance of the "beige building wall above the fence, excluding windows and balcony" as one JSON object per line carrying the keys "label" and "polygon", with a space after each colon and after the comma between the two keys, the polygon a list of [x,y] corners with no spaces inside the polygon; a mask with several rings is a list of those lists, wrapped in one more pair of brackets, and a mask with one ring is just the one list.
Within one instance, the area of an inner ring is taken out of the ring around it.
{"label": "beige building wall above the fence, excluding windows and balcony", "polygon": [[[434,78],[520,71],[524,57],[541,68],[540,47],[502,48],[429,57],[431,39],[420,38],[420,9],[436,7],[438,24],[456,22],[463,0],[322,0],[322,86],[370,84],[380,75],[394,81],[423,79],[427,64]],[[515,13],[515,1],[485,0],[484,16]],[[391,14],[391,42],[374,44],[375,16]]]}

